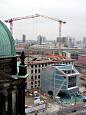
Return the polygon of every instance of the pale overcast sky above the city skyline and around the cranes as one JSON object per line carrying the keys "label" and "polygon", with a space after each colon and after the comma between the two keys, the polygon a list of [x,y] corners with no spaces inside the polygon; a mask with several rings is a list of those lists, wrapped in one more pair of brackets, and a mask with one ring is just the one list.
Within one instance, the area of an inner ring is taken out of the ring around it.
{"label": "pale overcast sky above the city skyline and around the cranes", "polygon": [[[36,13],[62,19],[62,36],[71,36],[77,40],[86,36],[86,0],[0,0],[0,19],[31,16]],[[44,35],[48,40],[58,36],[58,23],[44,18],[15,21],[13,36],[21,39],[36,39]],[[9,24],[7,24],[9,27]]]}

